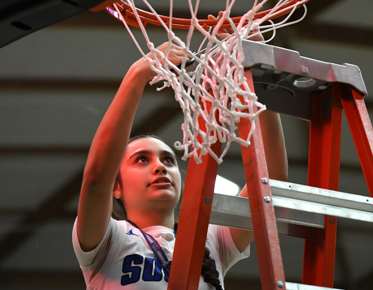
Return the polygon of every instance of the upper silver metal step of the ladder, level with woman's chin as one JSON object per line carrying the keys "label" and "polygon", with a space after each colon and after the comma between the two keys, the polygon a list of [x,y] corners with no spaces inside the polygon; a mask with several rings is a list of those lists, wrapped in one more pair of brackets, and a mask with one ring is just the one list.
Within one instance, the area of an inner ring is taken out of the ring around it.
{"label": "upper silver metal step of the ladder, level with woman's chin", "polygon": [[[325,215],[373,222],[373,198],[307,185],[270,180],[278,233],[313,238],[325,227]],[[252,230],[248,199],[214,194],[210,223]]]}

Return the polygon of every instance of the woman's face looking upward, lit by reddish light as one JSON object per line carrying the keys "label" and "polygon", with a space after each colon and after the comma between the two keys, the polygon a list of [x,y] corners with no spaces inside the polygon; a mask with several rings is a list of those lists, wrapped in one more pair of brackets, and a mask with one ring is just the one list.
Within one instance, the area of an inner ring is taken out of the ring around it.
{"label": "woman's face looking upward, lit by reddish light", "polygon": [[140,138],[128,144],[120,176],[127,212],[173,212],[179,201],[181,175],[175,154],[156,138]]}

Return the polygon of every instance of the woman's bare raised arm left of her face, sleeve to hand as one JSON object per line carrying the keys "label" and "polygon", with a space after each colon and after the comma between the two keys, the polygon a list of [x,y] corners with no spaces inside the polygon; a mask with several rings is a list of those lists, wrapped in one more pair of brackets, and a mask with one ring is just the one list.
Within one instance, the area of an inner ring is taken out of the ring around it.
{"label": "woman's bare raised arm left of her face, sleeve to hand", "polygon": [[[165,51],[168,43],[157,49]],[[184,53],[171,45],[169,60],[181,63]],[[151,54],[148,55],[151,57]],[[126,150],[132,121],[148,79],[156,75],[144,58],[124,77],[94,136],[79,198],[77,234],[82,250],[94,249],[102,240],[112,213],[112,190]]]}

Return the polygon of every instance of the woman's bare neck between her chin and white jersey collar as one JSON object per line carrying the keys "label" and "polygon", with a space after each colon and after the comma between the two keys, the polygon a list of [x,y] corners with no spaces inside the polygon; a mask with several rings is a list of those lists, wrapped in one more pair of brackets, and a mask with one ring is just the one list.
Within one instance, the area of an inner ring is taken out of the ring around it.
{"label": "woman's bare neck between her chin and white jersey collar", "polygon": [[159,212],[135,213],[127,212],[127,218],[134,222],[139,228],[148,228],[155,225],[163,226],[173,230],[175,227],[175,219],[172,215],[163,215]]}

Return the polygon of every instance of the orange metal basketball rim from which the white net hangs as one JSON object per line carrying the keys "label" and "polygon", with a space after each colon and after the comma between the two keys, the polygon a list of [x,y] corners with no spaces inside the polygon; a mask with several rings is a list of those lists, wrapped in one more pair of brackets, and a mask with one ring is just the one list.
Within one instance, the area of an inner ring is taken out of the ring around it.
{"label": "orange metal basketball rim from which the white net hangs", "polygon": [[[282,16],[282,15],[285,15],[285,14],[291,12],[291,10],[293,9],[293,7],[290,7],[290,6],[294,5],[297,2],[299,2],[299,0],[291,0],[291,1],[289,1],[288,3],[286,3],[285,5],[283,5],[281,7],[281,10],[285,9],[283,12],[281,12],[279,14],[276,14],[274,16],[271,16],[269,19],[275,19],[275,18],[277,18],[279,16]],[[303,4],[305,4],[305,3],[303,3]],[[116,2],[116,4],[117,4],[118,7],[120,7],[122,9],[122,11],[120,11],[120,14],[123,16],[123,18],[125,19],[126,23],[128,25],[140,28],[140,26],[139,26],[139,24],[137,22],[135,13],[132,11],[131,7],[127,3],[123,3],[122,1],[118,1],[118,2]],[[301,7],[303,4],[298,5],[296,8]],[[288,8],[288,9],[286,9],[286,8]],[[113,4],[110,5],[110,6],[108,6],[108,7],[106,7],[106,11],[109,12],[110,15],[112,15],[113,17],[115,17],[116,19],[118,19],[120,21],[120,19],[117,18],[115,15],[113,15],[113,13],[111,13],[110,10],[113,10],[113,11],[117,12],[116,9],[115,9],[115,7],[113,6]],[[136,8],[136,10],[137,10],[137,13],[138,13],[138,15],[139,15],[139,17],[141,19],[141,22],[142,22],[142,24],[144,26],[146,26],[147,23],[153,24],[153,25],[158,25],[158,26],[162,25],[158,21],[156,15],[154,15],[153,13],[146,12],[146,11],[138,9],[138,8]],[[266,10],[266,11],[263,11],[263,12],[255,13],[254,20],[259,19],[259,18],[263,18],[270,11],[271,10]],[[169,16],[159,15],[159,17],[163,20],[163,22],[167,26],[169,26],[169,21],[170,21],[170,17]],[[233,17],[231,19],[232,19],[232,21],[233,21],[233,23],[235,25],[238,25],[238,23],[239,23],[239,21],[241,19],[241,16]],[[210,26],[215,27],[218,21],[219,21],[219,19],[202,19],[202,20],[198,20],[198,24],[200,24],[204,29],[208,30],[210,28]],[[191,26],[191,19],[183,19],[183,18],[172,17],[172,28],[189,29],[190,26]],[[229,24],[228,20],[225,20],[223,22],[222,26],[221,26],[222,29],[230,28],[230,27],[231,27],[231,24]]]}

